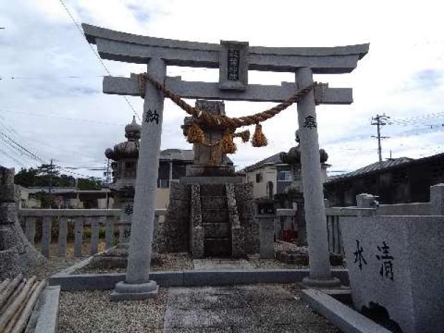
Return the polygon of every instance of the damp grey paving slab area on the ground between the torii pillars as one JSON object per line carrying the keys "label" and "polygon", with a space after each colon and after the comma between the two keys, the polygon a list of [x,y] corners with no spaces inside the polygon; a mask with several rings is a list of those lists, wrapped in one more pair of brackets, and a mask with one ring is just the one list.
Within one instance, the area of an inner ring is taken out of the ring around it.
{"label": "damp grey paving slab area on the ground between the torii pillars", "polygon": [[280,286],[170,288],[164,333],[338,332]]}

